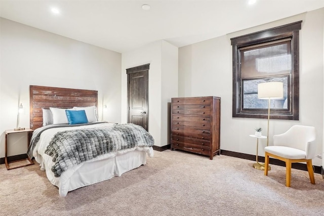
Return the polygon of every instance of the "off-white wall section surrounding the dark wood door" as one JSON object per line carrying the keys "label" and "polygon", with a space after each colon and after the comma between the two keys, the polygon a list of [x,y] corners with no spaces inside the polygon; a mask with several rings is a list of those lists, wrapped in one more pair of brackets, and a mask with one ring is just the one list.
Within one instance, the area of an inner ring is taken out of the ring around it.
{"label": "off-white wall section surrounding the dark wood door", "polygon": [[148,131],[155,140],[155,146],[167,145],[168,102],[178,95],[178,49],[159,40],[123,53],[121,62],[121,122],[127,122],[126,69],[149,63]]}

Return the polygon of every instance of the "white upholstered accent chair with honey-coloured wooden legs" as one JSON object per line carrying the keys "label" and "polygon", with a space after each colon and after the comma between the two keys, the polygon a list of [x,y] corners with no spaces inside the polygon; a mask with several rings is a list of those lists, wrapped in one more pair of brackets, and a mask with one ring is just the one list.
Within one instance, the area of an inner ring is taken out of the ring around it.
{"label": "white upholstered accent chair with honey-coloured wooden legs", "polygon": [[306,162],[310,183],[315,184],[312,158],[316,154],[315,127],[294,125],[287,132],[273,136],[273,146],[265,151],[264,175],[268,175],[269,157],[286,162],[286,186],[290,187],[292,163]]}

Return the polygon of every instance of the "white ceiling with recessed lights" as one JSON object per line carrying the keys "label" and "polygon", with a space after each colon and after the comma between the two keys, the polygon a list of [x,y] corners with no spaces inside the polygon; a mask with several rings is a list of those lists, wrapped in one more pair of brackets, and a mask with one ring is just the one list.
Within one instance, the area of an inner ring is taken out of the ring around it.
{"label": "white ceiling with recessed lights", "polygon": [[123,53],[161,39],[183,47],[323,7],[324,0],[0,0],[0,16]]}

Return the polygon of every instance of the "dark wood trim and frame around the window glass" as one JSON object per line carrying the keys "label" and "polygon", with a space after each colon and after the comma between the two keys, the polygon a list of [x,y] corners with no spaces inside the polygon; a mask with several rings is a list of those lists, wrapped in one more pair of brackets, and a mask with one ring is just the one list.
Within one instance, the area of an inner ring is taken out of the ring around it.
{"label": "dark wood trim and frame around the window glass", "polygon": [[[302,21],[231,38],[233,64],[232,116],[244,118],[267,118],[267,109],[242,110],[242,82],[240,77],[240,48],[263,44],[283,38],[291,38],[292,73],[289,77],[290,109],[271,109],[272,119],[299,120],[299,30]],[[265,77],[266,78],[266,77]],[[269,77],[270,78],[270,77]]]}

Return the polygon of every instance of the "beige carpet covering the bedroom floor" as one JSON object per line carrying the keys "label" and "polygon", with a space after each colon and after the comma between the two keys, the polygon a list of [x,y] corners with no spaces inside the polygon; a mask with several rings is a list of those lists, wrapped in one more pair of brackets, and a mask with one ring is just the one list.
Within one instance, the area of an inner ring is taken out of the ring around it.
{"label": "beige carpet covering the bedroom floor", "polygon": [[7,170],[0,165],[0,215],[324,215],[324,179],[254,161],[217,155],[214,160],[180,151],[155,151],[147,164],[121,177],[59,197],[38,164]]}

